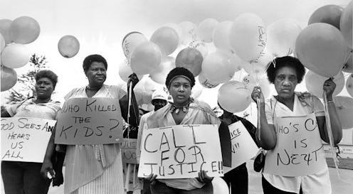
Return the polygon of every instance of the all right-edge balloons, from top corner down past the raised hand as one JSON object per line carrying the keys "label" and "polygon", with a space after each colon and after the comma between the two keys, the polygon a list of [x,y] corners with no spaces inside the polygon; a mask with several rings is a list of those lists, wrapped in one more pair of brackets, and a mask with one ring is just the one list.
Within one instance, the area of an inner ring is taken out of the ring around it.
{"label": "all right-edge balloons, from top corner down past the raised hand", "polygon": [[[342,8],[337,5],[322,6],[308,21],[308,26],[297,37],[297,58],[310,71],[305,75],[309,92],[323,97],[322,84],[333,77],[333,93],[337,114],[343,129],[353,127],[353,59],[352,17],[353,1]],[[347,80],[345,79],[347,77]],[[337,96],[345,87],[351,97]]]}

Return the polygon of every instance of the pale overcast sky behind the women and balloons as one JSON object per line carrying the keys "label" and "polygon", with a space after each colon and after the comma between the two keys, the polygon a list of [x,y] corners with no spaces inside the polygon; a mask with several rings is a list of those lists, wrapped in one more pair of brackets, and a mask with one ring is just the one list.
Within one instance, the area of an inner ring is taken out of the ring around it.
{"label": "pale overcast sky behind the women and balloons", "polygon": [[[73,87],[87,84],[82,61],[98,53],[107,58],[107,84],[122,82],[118,65],[125,59],[121,42],[125,34],[139,31],[149,39],[154,30],[165,23],[191,21],[197,25],[205,18],[233,21],[245,12],[257,14],[265,25],[280,18],[293,18],[302,27],[320,6],[347,5],[348,0],[1,0],[0,18],[14,20],[31,16],[41,26],[36,41],[28,44],[32,53],[46,55],[48,65],[59,76],[54,99],[62,100]],[[58,53],[58,40],[73,35],[80,41],[80,52],[74,58]],[[176,53],[174,53],[176,55]],[[16,69],[18,74],[26,67]],[[6,92],[1,92],[4,99]],[[211,97],[209,97],[211,95]],[[207,97],[206,97],[207,96]],[[203,92],[201,99],[215,105],[215,90]],[[3,102],[1,102],[3,104]]]}

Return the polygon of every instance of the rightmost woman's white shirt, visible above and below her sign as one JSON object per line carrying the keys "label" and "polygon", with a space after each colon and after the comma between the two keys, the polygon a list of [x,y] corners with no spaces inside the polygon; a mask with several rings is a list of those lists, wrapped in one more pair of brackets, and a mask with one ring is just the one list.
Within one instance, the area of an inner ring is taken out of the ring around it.
{"label": "rightmost woman's white shirt, visible above and below her sign", "polygon": [[[315,112],[316,117],[325,117],[324,107],[320,99],[312,97],[311,100],[305,100],[307,104],[299,100],[295,95],[293,111],[285,104],[278,102],[275,97],[266,99],[265,113],[268,124],[273,124],[274,117],[290,117],[298,115],[307,115]],[[272,104],[272,105],[271,105]],[[277,115],[277,116],[276,116]],[[330,194],[332,193],[330,175],[326,166],[322,171],[308,176],[278,176],[269,173],[263,173],[263,177],[275,188],[292,193],[299,193],[300,187],[303,194]]]}

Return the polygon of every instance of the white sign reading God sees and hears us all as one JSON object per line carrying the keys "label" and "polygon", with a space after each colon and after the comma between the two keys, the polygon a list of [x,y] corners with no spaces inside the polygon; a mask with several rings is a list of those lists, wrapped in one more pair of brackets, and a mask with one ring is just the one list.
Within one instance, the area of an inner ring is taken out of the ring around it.
{"label": "white sign reading God sees and hears us all", "polygon": [[43,162],[55,120],[1,118],[1,160]]}

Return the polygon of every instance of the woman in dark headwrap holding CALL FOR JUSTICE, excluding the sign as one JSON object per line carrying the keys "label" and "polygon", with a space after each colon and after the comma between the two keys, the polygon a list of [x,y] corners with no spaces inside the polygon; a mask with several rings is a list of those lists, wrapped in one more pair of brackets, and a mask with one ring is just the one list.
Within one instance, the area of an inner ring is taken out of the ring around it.
{"label": "woman in dark headwrap holding CALL FOR JUSTICE, excluding the sign", "polygon": [[[209,107],[190,97],[191,88],[195,85],[194,75],[186,68],[174,68],[167,75],[166,85],[173,97],[173,103],[151,114],[144,128],[152,129],[176,124],[217,124],[220,136],[226,136],[229,140],[221,141],[223,166],[231,166],[231,138],[228,126],[223,124]],[[200,171],[198,178],[158,180],[156,178],[157,175],[153,174],[146,178],[149,180],[152,193],[213,193],[211,183],[213,178],[207,176],[205,171]]]}

